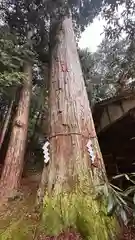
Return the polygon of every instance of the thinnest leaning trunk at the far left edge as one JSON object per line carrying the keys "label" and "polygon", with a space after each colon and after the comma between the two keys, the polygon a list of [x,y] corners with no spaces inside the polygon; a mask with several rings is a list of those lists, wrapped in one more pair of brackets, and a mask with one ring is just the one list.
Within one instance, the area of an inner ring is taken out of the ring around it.
{"label": "thinnest leaning trunk at the far left edge", "polygon": [[7,131],[8,125],[9,125],[9,121],[10,121],[10,117],[11,117],[11,111],[12,111],[12,107],[13,107],[13,102],[14,101],[12,100],[11,103],[10,103],[10,106],[8,108],[8,111],[7,111],[7,114],[6,114],[6,117],[5,117],[4,125],[2,127],[2,132],[1,132],[1,135],[0,135],[0,149],[1,149],[1,146],[3,144],[4,138],[5,138],[5,135],[6,135],[6,131]]}

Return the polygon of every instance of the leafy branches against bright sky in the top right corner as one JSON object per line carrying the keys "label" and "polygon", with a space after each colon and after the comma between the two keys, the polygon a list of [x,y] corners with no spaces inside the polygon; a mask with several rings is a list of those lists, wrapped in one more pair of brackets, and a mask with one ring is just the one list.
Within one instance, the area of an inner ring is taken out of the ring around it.
{"label": "leafy branches against bright sky in the top right corner", "polygon": [[106,35],[109,38],[120,39],[125,33],[128,39],[134,39],[134,0],[119,0],[116,4],[106,5],[103,7],[102,14],[107,21]]}

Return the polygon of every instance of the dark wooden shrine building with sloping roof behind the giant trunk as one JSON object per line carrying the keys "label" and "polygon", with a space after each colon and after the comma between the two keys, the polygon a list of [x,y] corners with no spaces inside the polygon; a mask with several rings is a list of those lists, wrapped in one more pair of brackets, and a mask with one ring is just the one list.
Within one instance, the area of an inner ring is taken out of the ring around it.
{"label": "dark wooden shrine building with sloping roof behind the giant trunk", "polygon": [[93,117],[108,177],[135,172],[135,91],[97,103]]}

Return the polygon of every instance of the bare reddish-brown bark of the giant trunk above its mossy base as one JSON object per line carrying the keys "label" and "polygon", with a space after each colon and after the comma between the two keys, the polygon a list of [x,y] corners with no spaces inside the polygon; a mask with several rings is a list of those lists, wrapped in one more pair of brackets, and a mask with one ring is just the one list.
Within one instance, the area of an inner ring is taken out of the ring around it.
{"label": "bare reddish-brown bark of the giant trunk above its mossy base", "polygon": [[[95,173],[97,180],[99,172],[105,171],[71,18],[64,19],[51,57],[49,192],[53,187],[59,191],[63,185],[72,185],[81,169],[89,168],[90,175]],[[89,139],[93,143],[97,168],[92,167],[88,156],[86,145]]]}

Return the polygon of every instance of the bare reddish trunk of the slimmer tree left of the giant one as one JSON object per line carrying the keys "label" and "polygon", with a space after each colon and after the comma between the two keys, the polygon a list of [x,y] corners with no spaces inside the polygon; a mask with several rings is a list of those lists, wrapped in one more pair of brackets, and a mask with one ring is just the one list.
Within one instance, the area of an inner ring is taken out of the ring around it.
{"label": "bare reddish trunk of the slimmer tree left of the giant one", "polygon": [[1,197],[11,196],[14,190],[18,189],[23,170],[32,82],[31,64],[25,63],[24,73],[26,74],[26,79],[22,87],[16,117],[13,121],[12,133],[0,181]]}

